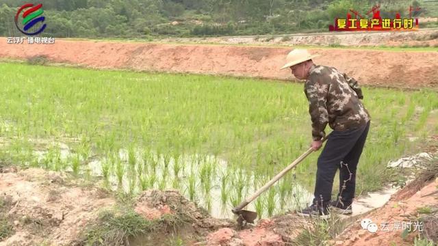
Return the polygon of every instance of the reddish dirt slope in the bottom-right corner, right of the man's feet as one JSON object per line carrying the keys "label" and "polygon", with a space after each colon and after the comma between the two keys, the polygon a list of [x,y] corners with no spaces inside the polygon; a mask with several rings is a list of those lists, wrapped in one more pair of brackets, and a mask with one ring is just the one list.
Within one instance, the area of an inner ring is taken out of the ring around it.
{"label": "reddish dirt slope in the bottom-right corner, right of the man's feet", "polygon": [[[335,245],[359,246],[359,245],[412,245],[413,239],[418,232],[428,230],[438,238],[438,223],[433,226],[427,222],[420,222],[417,217],[423,208],[430,210],[438,209],[438,178],[429,182],[420,191],[409,193],[402,190],[394,195],[391,200],[383,206],[374,210],[366,217],[378,226],[375,233],[361,228],[361,219],[354,223],[345,232],[337,237]],[[435,220],[437,218],[435,217]],[[402,232],[411,224],[411,233],[406,237]]]}

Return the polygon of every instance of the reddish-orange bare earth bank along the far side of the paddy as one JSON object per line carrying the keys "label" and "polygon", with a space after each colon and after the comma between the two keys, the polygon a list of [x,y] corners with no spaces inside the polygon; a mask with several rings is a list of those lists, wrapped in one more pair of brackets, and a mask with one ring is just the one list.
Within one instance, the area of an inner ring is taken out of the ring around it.
{"label": "reddish-orange bare earth bank along the far side of the paddy", "polygon": [[[290,48],[59,40],[55,44],[7,44],[0,38],[0,58],[42,55],[57,63],[90,68],[190,72],[290,80],[279,71]],[[438,87],[438,52],[358,49],[311,49],[315,63],[334,66],[365,85]]]}

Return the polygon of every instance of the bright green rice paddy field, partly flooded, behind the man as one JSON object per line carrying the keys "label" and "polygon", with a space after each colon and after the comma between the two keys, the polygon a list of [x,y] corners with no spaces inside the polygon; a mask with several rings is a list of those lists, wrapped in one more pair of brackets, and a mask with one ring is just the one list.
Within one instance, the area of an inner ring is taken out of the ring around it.
{"label": "bright green rice paddy field, partly flooded, behind the man", "polygon": [[[134,195],[177,189],[214,217],[231,217],[311,142],[302,83],[8,62],[0,63],[0,83],[3,163],[65,171]],[[388,161],[438,134],[436,91],[363,92],[372,124],[358,195],[381,189],[394,178]],[[317,158],[311,154],[250,209],[268,217],[305,206]]]}

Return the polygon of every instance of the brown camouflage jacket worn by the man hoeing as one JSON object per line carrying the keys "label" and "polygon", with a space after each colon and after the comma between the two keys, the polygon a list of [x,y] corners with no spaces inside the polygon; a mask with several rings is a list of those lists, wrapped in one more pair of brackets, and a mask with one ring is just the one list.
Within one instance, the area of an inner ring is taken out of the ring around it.
{"label": "brown camouflage jacket worn by the man hoeing", "polygon": [[370,120],[359,100],[363,94],[357,81],[336,68],[312,66],[304,91],[309,100],[313,140],[324,137],[327,123],[335,131],[346,131]]}

